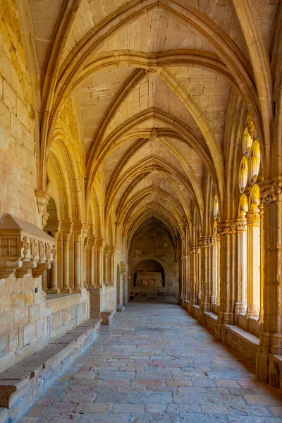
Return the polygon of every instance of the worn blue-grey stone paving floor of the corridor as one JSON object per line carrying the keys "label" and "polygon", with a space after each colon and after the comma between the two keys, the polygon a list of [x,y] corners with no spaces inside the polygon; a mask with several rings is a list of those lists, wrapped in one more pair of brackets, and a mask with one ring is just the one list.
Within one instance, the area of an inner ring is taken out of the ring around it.
{"label": "worn blue-grey stone paving floor of the corridor", "polygon": [[20,423],[282,423],[282,393],[177,305],[130,303]]}

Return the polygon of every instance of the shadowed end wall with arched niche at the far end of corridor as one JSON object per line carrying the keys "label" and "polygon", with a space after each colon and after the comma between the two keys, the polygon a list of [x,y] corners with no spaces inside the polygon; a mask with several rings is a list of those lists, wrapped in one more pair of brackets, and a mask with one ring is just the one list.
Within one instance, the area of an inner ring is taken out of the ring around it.
{"label": "shadowed end wall with arched niche at the far end of corridor", "polygon": [[[137,271],[160,271],[153,269],[156,261],[164,269],[164,286],[135,286]],[[130,297],[134,300],[164,300],[176,302],[178,296],[178,264],[173,241],[168,232],[152,222],[135,236],[130,249],[129,262]]]}

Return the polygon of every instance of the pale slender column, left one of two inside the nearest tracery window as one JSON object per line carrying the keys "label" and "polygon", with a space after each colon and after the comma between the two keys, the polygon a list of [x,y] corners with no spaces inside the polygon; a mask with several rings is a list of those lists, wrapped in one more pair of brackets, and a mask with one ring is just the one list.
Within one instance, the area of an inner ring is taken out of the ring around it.
{"label": "pale slender column, left one of two inside the nearest tracery window", "polygon": [[235,303],[235,324],[238,324],[238,314],[247,311],[247,221],[237,221],[237,263],[238,286],[237,301]]}

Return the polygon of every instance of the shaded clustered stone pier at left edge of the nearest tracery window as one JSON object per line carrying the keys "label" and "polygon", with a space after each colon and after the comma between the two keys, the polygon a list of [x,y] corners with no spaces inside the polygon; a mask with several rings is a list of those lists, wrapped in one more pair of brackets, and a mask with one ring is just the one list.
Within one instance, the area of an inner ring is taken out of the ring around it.
{"label": "shaded clustered stone pier at left edge of the nearest tracery window", "polygon": [[220,235],[220,307],[216,340],[221,341],[222,324],[234,324],[236,262],[236,220],[222,221],[218,225]]}

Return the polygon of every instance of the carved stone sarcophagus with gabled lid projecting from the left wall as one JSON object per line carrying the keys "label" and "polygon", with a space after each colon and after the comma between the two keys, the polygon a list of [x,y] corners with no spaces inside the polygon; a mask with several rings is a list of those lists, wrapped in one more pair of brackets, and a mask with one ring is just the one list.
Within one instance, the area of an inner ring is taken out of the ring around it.
{"label": "carved stone sarcophagus with gabled lid projecting from the left wall", "polygon": [[32,223],[4,213],[0,219],[0,278],[41,276],[56,255],[56,240]]}

